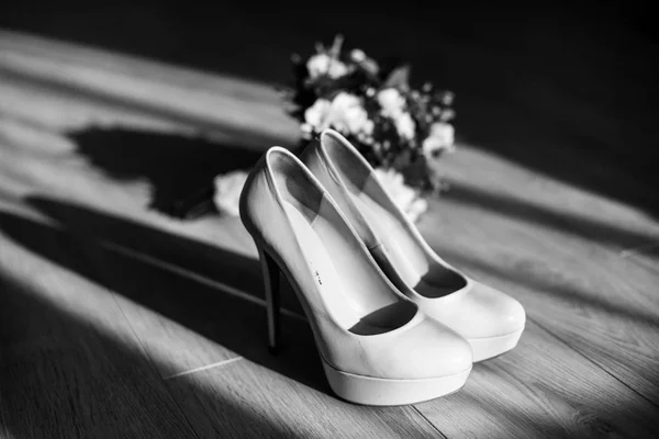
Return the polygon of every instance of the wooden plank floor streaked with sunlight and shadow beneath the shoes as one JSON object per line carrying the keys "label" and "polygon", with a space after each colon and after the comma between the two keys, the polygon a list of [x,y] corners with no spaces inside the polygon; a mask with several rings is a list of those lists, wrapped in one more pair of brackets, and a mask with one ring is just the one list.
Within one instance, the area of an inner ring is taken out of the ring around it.
{"label": "wooden plank floor streaked with sunlight and shadow beneath the shoes", "polygon": [[287,290],[271,356],[239,219],[166,212],[297,130],[268,85],[0,33],[0,437],[656,437],[657,218],[473,145],[420,228],[524,304],[517,348],[348,404]]}

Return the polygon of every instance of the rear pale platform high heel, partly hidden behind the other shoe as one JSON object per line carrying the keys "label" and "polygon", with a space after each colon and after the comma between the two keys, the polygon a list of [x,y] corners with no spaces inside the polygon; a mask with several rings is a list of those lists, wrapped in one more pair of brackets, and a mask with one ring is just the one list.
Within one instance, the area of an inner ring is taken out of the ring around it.
{"label": "rear pale platform high heel, partly hidden behind the other shoe", "polygon": [[425,314],[469,340],[474,362],[517,345],[526,319],[522,305],[437,256],[345,137],[326,130],[320,142],[302,151],[301,159],[332,194],[393,284]]}

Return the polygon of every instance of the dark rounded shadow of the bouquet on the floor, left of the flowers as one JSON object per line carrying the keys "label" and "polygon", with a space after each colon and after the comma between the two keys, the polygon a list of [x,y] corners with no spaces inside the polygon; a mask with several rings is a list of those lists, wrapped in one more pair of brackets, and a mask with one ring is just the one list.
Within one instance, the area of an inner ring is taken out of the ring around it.
{"label": "dark rounded shadow of the bouquet on the floor, left of the flowers", "polygon": [[[260,150],[212,143],[199,137],[122,128],[86,128],[68,133],[78,154],[110,178],[145,179],[152,187],[148,207],[174,217],[185,217],[186,201],[212,199],[217,175],[249,170]],[[216,212],[206,203],[209,212]]]}

